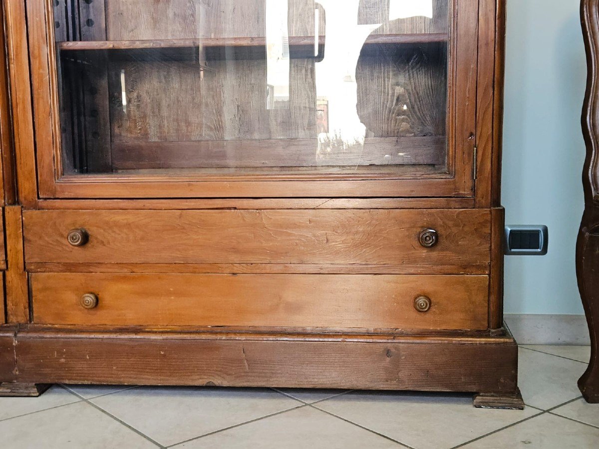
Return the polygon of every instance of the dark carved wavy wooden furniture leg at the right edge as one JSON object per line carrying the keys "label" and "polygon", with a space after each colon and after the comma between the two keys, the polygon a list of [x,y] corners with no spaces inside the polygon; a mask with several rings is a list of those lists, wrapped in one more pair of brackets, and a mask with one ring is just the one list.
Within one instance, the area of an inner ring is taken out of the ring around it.
{"label": "dark carved wavy wooden furniture leg at the right edge", "polygon": [[578,386],[586,401],[599,403],[599,0],[583,0],[580,15],[588,78],[582,112],[582,131],[586,142],[583,175],[585,213],[576,245],[576,274],[591,333],[591,360]]}

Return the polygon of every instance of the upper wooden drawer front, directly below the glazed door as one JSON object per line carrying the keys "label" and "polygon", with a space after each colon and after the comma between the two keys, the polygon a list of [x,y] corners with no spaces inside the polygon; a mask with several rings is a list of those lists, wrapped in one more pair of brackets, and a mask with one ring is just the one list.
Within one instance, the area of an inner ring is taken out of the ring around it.
{"label": "upper wooden drawer front, directly below the glazed door", "polygon": [[[485,265],[489,210],[24,211],[26,262]],[[70,230],[84,229],[73,246]],[[438,232],[431,248],[422,230]]]}

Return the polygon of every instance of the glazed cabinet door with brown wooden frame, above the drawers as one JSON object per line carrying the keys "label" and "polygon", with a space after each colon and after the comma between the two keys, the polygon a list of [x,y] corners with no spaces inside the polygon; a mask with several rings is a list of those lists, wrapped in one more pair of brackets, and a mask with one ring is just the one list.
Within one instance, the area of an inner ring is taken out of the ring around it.
{"label": "glazed cabinet door with brown wooden frame, above the drawers", "polygon": [[478,0],[26,10],[42,198],[473,196]]}

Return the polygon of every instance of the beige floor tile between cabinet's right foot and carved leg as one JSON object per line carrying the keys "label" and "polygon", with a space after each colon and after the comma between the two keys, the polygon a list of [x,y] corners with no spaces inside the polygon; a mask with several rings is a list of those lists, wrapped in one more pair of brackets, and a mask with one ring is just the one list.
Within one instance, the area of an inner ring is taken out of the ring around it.
{"label": "beige floor tile between cabinet's right foot and carved leg", "polygon": [[520,348],[518,384],[525,404],[548,409],[580,396],[577,381],[586,365]]}

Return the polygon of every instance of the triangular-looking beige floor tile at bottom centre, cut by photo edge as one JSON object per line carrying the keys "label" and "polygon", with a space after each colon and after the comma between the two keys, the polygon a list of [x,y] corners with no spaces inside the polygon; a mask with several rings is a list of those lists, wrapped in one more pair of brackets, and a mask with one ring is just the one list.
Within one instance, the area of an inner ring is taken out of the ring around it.
{"label": "triangular-looking beige floor tile at bottom centre, cut by photo edge", "polygon": [[177,445],[176,449],[399,449],[402,446],[304,406]]}

